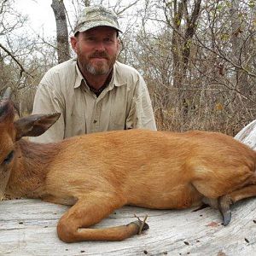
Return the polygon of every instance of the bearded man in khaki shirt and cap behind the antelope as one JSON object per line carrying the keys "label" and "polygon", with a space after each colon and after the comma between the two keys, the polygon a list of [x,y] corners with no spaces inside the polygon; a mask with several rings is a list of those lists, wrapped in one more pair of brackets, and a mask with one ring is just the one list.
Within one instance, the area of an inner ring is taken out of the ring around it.
{"label": "bearded man in khaki shirt and cap behind the antelope", "polygon": [[156,130],[142,76],[116,61],[119,24],[102,6],[84,9],[71,37],[77,58],[52,67],[40,84],[33,113],[61,113],[49,131],[32,141],[49,143],[97,131]]}

